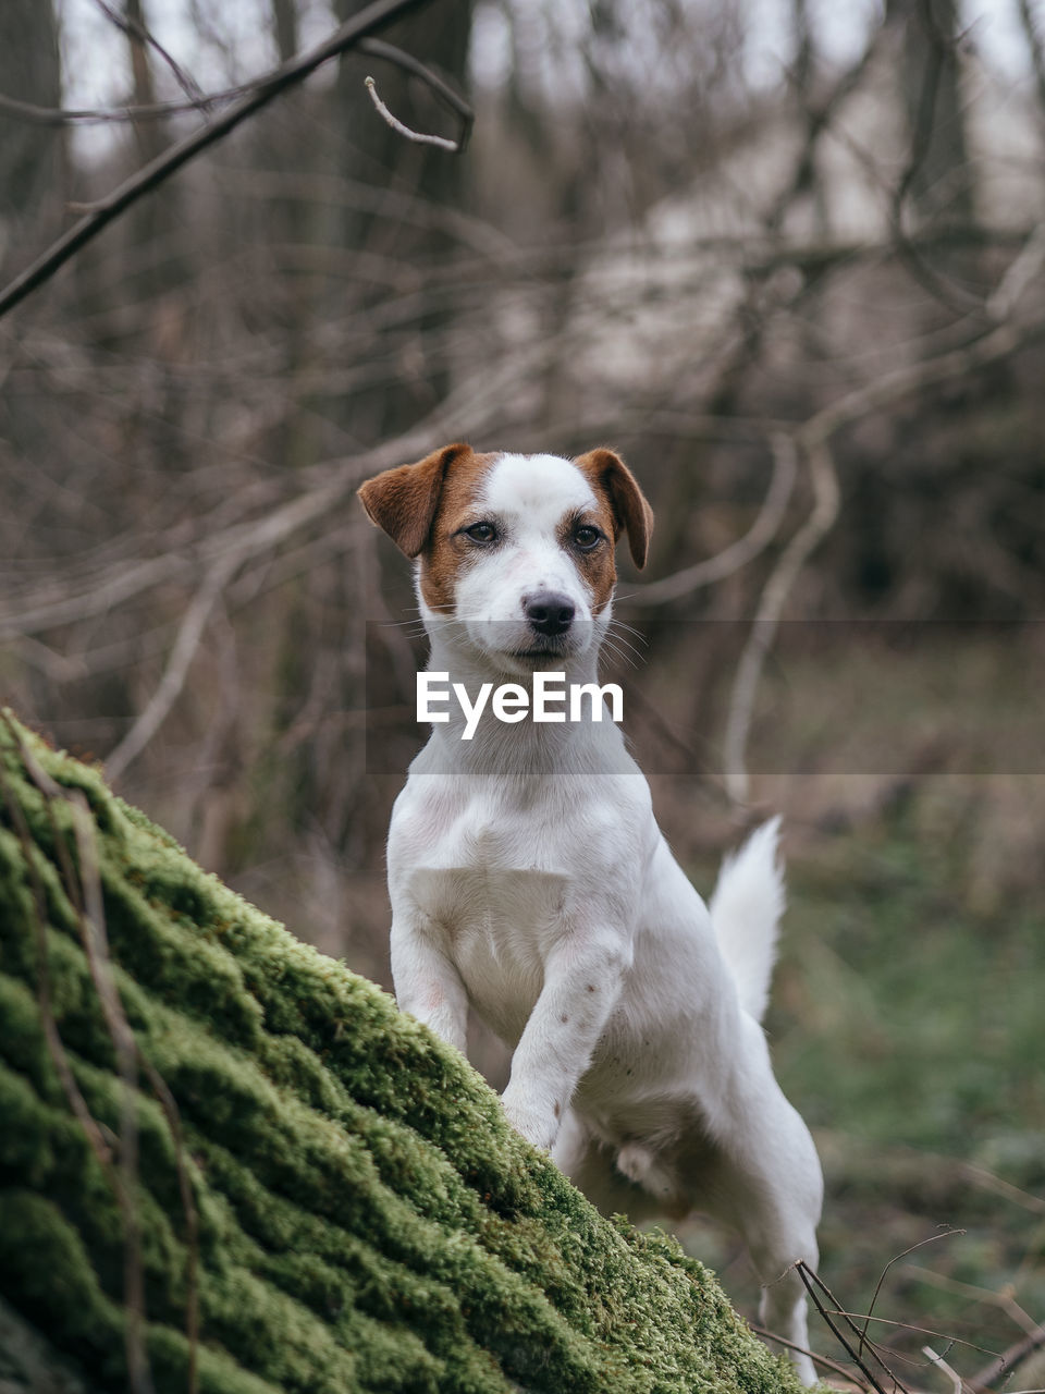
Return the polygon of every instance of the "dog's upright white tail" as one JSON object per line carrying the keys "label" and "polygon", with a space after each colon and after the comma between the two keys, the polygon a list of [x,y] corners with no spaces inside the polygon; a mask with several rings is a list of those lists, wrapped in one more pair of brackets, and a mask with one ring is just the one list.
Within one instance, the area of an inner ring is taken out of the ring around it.
{"label": "dog's upright white tail", "polygon": [[757,1022],[762,1020],[769,999],[776,935],[787,903],[776,859],[779,834],[780,818],[771,818],[725,859],[708,906],[740,1005]]}

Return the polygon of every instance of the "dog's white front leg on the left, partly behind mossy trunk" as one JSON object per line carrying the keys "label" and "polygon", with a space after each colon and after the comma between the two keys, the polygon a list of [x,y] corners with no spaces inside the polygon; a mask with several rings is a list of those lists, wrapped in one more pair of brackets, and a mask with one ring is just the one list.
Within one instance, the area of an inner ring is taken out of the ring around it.
{"label": "dog's white front leg on the left, partly behind mossy trunk", "polygon": [[446,948],[446,935],[419,910],[394,910],[392,981],[396,1001],[464,1055],[468,1043],[468,997]]}

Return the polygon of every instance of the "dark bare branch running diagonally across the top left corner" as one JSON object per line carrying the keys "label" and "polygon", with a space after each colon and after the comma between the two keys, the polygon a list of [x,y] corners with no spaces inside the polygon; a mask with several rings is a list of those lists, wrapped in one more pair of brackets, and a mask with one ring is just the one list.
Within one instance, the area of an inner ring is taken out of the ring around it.
{"label": "dark bare branch running diagonally across the top left corner", "polygon": [[393,20],[400,18],[410,10],[415,10],[431,0],[375,0],[359,14],[353,15],[343,25],[308,53],[291,59],[283,67],[276,68],[268,77],[261,78],[238,102],[227,107],[220,116],[178,141],[163,155],[157,156],[145,169],[139,170],[130,180],[116,188],[107,198],[102,199],[93,212],[75,223],[64,236],[47,248],[31,266],[0,291],[0,315],[7,314],[20,304],[38,286],[59,270],[60,266],[74,256],[82,247],[95,238],[103,227],[107,227],[125,209],[135,204],[145,194],[152,192],[166,183],[184,164],[195,159],[201,151],[215,145],[235,130],[247,117],[254,116],[274,98],[288,88],[304,82],[318,67],[329,63],[347,49],[354,47],[359,39],[366,38],[375,29],[383,28]]}

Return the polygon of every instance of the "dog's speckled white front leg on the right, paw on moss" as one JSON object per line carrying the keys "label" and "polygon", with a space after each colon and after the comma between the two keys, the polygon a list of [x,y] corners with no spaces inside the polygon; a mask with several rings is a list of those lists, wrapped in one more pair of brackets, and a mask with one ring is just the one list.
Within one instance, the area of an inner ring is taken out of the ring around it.
{"label": "dog's speckled white front leg on the right, paw on moss", "polygon": [[549,953],[503,1094],[513,1128],[535,1147],[550,1151],[630,960],[630,945],[605,933],[574,931]]}

